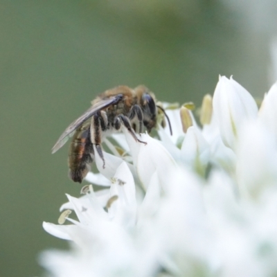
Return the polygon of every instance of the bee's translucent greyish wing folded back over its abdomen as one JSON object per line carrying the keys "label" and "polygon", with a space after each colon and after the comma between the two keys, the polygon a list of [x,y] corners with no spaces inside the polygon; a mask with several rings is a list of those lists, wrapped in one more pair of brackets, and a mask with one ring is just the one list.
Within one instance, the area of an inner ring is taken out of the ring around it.
{"label": "bee's translucent greyish wing folded back over its abdomen", "polygon": [[96,114],[97,111],[100,111],[101,109],[105,109],[111,105],[115,105],[122,99],[123,99],[123,94],[118,94],[114,97],[111,97],[105,100],[100,100],[95,105],[90,107],[84,114],[82,114],[82,116],[74,120],[73,123],[71,123],[71,125],[69,125],[69,127],[65,129],[65,131],[62,133],[60,138],[53,146],[52,154],[57,152],[57,150],[59,150],[66,143],[66,141],[68,141],[70,134],[75,129],[77,129],[82,123],[84,123],[85,120],[93,116],[93,114]]}

